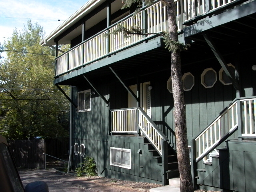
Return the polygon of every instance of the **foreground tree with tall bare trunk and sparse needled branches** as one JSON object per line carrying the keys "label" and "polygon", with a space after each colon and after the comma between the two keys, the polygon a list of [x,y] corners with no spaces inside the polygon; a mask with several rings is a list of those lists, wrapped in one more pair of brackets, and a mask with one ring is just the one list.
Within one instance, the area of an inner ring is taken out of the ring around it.
{"label": "foreground tree with tall bare trunk and sparse needled branches", "polygon": [[[142,4],[151,5],[153,0],[123,0],[122,8],[130,8],[134,4],[138,8],[142,7]],[[182,82],[181,72],[181,60],[180,51],[186,50],[189,45],[183,45],[178,41],[178,27],[176,23],[176,5],[174,0],[164,0],[167,5],[167,17],[168,17],[168,33],[158,34],[164,36],[164,42],[166,48],[170,51],[171,60],[171,76],[172,76],[172,94],[174,99],[174,122],[175,122],[175,134],[176,134],[176,148],[178,155],[178,166],[180,172],[180,191],[192,192],[192,176],[189,161],[188,151],[188,139],[187,139],[187,126],[186,126],[186,106],[184,101],[184,90]],[[139,9],[135,11],[137,14]],[[131,34],[147,35],[155,33],[145,33],[144,29],[138,26],[125,28],[120,24],[118,28],[112,32],[113,34],[123,32],[124,36],[130,36]]]}

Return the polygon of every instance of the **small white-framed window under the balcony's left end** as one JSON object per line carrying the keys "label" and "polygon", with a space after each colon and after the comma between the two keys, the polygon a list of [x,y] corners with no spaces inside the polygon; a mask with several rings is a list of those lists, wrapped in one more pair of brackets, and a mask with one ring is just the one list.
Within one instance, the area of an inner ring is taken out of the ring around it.
{"label": "small white-framed window under the balcony's left end", "polygon": [[78,92],[78,112],[91,110],[91,90]]}

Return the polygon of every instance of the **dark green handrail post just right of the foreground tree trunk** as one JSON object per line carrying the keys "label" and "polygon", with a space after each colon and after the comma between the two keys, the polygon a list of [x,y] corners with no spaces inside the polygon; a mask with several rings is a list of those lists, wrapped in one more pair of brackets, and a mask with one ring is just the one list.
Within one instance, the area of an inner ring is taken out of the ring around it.
{"label": "dark green handrail post just right of the foreground tree trunk", "polygon": [[191,140],[191,175],[193,181],[193,188],[194,190],[197,189],[197,163],[196,163],[196,142],[194,139]]}

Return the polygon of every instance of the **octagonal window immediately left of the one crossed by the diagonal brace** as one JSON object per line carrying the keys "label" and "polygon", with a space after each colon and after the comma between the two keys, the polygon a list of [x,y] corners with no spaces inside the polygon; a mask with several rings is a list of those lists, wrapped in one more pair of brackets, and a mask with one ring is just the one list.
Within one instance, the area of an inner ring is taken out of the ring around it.
{"label": "octagonal window immediately left of the one crossed by the diagonal brace", "polygon": [[213,70],[213,68],[207,68],[202,72],[201,84],[205,88],[213,87],[216,81],[217,81],[217,74],[216,74],[216,71]]}

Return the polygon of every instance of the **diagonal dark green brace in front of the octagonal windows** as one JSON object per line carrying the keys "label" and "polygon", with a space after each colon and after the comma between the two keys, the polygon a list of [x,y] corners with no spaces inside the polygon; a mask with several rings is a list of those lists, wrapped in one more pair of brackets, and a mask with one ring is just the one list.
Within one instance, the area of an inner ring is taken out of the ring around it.
{"label": "diagonal dark green brace in front of the octagonal windows", "polygon": [[210,46],[212,52],[216,56],[217,60],[220,62],[220,65],[224,69],[226,75],[228,76],[228,78],[232,82],[232,85],[234,86],[234,88],[236,90],[239,90],[239,84],[238,84],[235,76],[232,73],[229,72],[228,65],[226,64],[224,58],[220,54],[220,52],[219,52],[218,48],[216,47],[216,45],[214,44],[212,38],[210,38],[210,36],[208,36],[206,32],[203,32],[202,34],[203,34],[204,39],[206,40],[207,44]]}

